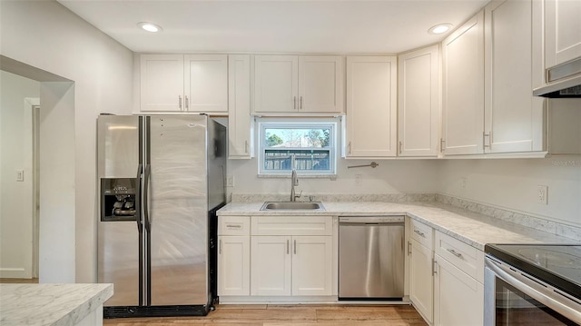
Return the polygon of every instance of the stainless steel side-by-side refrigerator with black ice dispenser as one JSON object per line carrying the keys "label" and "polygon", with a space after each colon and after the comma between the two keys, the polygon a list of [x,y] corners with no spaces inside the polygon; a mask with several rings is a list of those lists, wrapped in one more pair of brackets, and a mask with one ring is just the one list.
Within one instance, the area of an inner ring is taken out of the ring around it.
{"label": "stainless steel side-by-side refrigerator with black ice dispenser", "polygon": [[205,315],[216,297],[226,129],[206,115],[100,115],[98,282],[105,318]]}

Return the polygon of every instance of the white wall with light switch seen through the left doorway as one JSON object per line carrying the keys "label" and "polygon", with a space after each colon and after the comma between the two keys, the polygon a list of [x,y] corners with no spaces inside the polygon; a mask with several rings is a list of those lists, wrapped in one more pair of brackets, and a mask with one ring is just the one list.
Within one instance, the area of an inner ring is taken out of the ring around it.
{"label": "white wall with light switch seen through the left doorway", "polygon": [[[40,84],[0,71],[0,277],[33,276],[32,112]],[[25,171],[24,182],[16,170]]]}

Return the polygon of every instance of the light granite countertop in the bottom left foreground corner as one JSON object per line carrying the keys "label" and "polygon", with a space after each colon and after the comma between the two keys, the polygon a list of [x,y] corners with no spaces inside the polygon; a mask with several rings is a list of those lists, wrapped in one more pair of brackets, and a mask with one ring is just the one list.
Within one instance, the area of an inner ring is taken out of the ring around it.
{"label": "light granite countertop in the bottom left foreground corner", "polygon": [[74,325],[113,295],[113,284],[0,284],[0,324]]}

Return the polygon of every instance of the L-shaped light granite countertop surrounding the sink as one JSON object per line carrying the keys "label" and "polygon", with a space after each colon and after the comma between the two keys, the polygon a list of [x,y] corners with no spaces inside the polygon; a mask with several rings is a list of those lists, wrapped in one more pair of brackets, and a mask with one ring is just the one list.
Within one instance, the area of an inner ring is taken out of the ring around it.
{"label": "L-shaped light granite countertop surrounding the sink", "polygon": [[484,251],[487,243],[575,243],[573,239],[539,231],[514,222],[490,217],[481,213],[445,203],[382,203],[343,202],[323,203],[325,211],[260,211],[260,203],[228,203],[218,211],[218,216],[229,215],[328,215],[369,216],[407,215],[435,230],[446,233],[461,242]]}

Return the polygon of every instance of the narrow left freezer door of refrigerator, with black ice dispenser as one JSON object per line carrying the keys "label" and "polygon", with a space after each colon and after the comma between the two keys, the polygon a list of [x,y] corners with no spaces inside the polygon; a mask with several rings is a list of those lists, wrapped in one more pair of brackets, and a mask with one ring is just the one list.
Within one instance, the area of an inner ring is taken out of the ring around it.
{"label": "narrow left freezer door of refrigerator, with black ice dispenser", "polygon": [[97,279],[113,283],[115,289],[104,306],[142,303],[141,130],[138,116],[100,115],[97,120],[97,170],[101,181]]}

